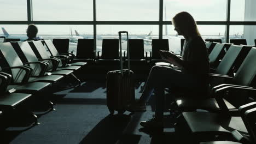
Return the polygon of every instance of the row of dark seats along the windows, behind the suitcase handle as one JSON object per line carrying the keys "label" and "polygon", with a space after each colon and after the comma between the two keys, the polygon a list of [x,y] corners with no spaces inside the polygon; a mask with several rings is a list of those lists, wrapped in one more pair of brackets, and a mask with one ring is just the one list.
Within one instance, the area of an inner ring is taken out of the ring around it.
{"label": "row of dark seats along the windows, behind the suitcase handle", "polygon": [[[67,39],[54,39],[56,47],[60,47],[59,51],[67,51],[68,40]],[[152,40],[152,51],[144,52],[143,39],[129,39],[130,47],[130,59],[132,65],[143,65],[147,64],[147,60],[154,63],[156,59],[160,60],[158,50],[169,51],[168,39],[153,39]],[[66,47],[65,50],[62,48]],[[61,50],[62,49],[62,50]],[[101,52],[101,56],[100,56]],[[147,57],[149,54],[149,58]],[[126,51],[123,53],[124,59],[126,59]],[[94,39],[78,39],[77,45],[77,56],[74,61],[84,61],[90,64],[98,65],[119,65],[119,40],[118,39],[103,39],[102,50],[94,50]]]}

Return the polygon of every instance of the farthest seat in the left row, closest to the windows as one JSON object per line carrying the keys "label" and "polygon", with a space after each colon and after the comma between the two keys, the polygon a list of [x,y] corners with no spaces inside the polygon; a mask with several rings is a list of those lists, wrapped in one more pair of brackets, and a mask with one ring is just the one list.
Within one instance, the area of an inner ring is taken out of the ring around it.
{"label": "farthest seat in the left row, closest to the windows", "polygon": [[[71,63],[75,57],[75,55],[73,53],[59,53],[56,50],[56,47],[54,46],[54,44],[51,42],[51,40],[42,40],[42,43],[46,45],[46,47],[48,48],[49,52],[51,53],[51,57],[56,57],[59,59],[66,59],[66,63],[68,63],[68,65],[77,65],[77,66],[83,66],[86,64],[86,62],[75,62],[75,63]],[[71,55],[71,56],[66,56],[66,55]]]}

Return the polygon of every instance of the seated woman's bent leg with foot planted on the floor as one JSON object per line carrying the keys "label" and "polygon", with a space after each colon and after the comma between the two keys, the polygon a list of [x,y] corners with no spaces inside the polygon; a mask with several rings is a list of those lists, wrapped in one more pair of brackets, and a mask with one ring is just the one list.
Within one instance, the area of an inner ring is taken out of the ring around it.
{"label": "seated woman's bent leg with foot planted on the floor", "polygon": [[[162,127],[162,118],[164,116],[165,109],[165,91],[164,88],[181,88],[186,91],[187,89],[197,88],[199,83],[196,78],[184,74],[181,71],[177,71],[168,67],[155,67],[154,72],[152,73],[154,77],[146,85],[148,88],[154,89],[155,92],[155,118],[150,119],[149,121],[141,122],[143,127]],[[158,74],[158,75],[156,75]],[[148,90],[145,89],[147,92]],[[144,94],[144,91],[143,91]],[[142,94],[142,96],[144,96]],[[148,98],[144,96],[145,98]],[[144,99],[147,100],[147,99]]]}

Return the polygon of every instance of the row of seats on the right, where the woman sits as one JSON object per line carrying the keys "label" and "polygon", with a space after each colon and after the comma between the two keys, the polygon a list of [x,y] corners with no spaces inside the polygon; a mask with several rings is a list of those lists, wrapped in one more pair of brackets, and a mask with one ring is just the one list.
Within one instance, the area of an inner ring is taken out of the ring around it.
{"label": "row of seats on the right, where the woman sits", "polygon": [[175,93],[171,112],[201,144],[255,143],[256,47],[211,45],[211,91]]}

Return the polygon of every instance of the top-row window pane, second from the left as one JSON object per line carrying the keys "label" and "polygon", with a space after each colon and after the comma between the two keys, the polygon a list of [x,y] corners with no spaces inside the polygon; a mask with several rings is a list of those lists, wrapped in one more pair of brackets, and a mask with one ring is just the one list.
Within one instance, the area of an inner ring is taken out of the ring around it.
{"label": "top-row window pane, second from the left", "polygon": [[34,21],[92,21],[92,0],[33,0]]}

